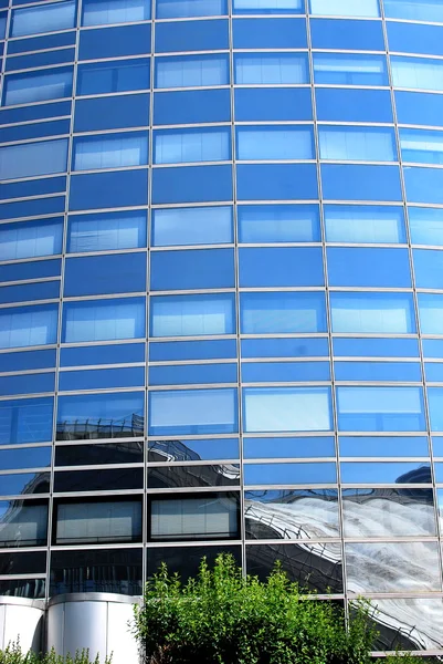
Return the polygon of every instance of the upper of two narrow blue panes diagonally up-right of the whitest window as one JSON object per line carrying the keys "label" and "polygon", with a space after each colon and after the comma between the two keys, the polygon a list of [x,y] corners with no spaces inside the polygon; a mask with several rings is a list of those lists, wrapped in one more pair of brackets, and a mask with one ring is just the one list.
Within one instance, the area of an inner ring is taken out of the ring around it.
{"label": "upper of two narrow blue panes diagonally up-right of the whitest window", "polygon": [[334,354],[342,357],[419,357],[416,339],[333,339]]}

